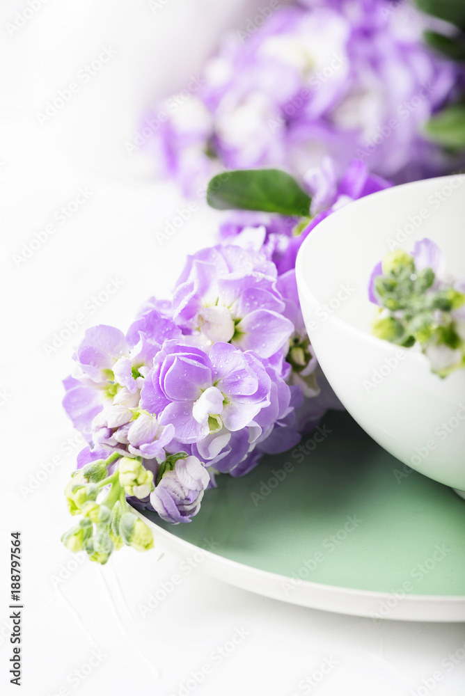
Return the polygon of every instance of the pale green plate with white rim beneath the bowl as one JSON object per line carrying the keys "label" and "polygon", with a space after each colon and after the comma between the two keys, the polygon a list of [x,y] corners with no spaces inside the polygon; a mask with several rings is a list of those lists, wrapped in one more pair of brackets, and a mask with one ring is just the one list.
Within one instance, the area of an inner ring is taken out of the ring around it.
{"label": "pale green plate with white rim beneath the bowl", "polygon": [[328,413],[303,443],[305,454],[298,446],[245,477],[218,476],[190,524],[144,512],[156,541],[274,599],[465,621],[465,501],[404,468],[347,413]]}

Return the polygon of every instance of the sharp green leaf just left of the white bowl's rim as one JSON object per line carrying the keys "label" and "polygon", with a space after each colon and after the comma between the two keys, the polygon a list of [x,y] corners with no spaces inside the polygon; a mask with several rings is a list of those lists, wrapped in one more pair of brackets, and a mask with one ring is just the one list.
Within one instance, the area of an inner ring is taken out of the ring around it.
{"label": "sharp green leaf just left of the white bowl's rim", "polygon": [[279,169],[239,169],[218,174],[207,188],[207,203],[219,210],[260,210],[306,216],[311,198]]}

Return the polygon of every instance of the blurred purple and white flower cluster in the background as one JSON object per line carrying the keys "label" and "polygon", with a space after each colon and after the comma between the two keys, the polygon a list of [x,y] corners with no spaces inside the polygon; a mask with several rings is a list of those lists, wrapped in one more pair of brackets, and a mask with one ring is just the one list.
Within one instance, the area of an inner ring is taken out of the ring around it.
{"label": "blurred purple and white flower cluster in the background", "polygon": [[159,174],[189,195],[221,168],[278,166],[305,183],[324,157],[336,177],[358,159],[400,183],[458,166],[425,130],[464,84],[423,38],[451,25],[404,0],[271,5],[223,40],[195,90],[166,101],[166,120],[148,116]]}

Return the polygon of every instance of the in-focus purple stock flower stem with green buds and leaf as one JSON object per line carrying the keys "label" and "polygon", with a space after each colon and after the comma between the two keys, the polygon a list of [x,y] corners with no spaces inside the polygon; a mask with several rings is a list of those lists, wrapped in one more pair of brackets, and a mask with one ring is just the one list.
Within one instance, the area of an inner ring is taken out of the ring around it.
{"label": "in-focus purple stock flower stem with green buds and leaf", "polygon": [[81,515],[63,536],[70,550],[104,563],[123,544],[151,548],[128,501],[190,522],[217,475],[245,475],[340,407],[308,340],[295,257],[324,216],[388,184],[358,162],[337,182],[327,164],[315,176],[326,209],[312,219],[314,201],[284,172],[213,180],[211,205],[246,210],[220,243],[189,256],[171,299],[150,299],[126,333],[86,331],[64,381],[65,411],[88,442],[65,491]]}

